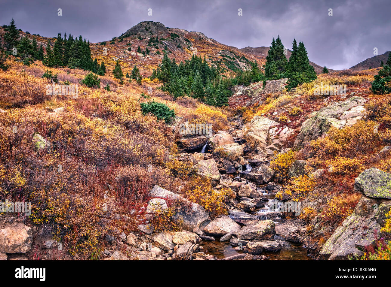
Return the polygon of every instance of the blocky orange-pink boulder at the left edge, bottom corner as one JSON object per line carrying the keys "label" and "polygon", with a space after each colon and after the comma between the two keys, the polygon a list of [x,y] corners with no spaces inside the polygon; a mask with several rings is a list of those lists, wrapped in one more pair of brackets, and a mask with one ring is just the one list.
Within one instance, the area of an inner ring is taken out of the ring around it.
{"label": "blocky orange-pink boulder at the left edge, bottom corner", "polygon": [[0,252],[26,253],[31,249],[32,231],[23,223],[10,225],[0,230]]}

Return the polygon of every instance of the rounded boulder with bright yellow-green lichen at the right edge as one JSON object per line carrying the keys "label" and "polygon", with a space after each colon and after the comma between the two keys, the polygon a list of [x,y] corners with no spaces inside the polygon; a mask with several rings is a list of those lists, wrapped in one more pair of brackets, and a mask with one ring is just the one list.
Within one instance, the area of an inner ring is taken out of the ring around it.
{"label": "rounded boulder with bright yellow-green lichen at the right edge", "polygon": [[366,169],[355,179],[354,191],[368,197],[391,199],[391,173],[377,168]]}

